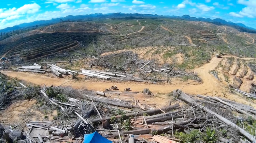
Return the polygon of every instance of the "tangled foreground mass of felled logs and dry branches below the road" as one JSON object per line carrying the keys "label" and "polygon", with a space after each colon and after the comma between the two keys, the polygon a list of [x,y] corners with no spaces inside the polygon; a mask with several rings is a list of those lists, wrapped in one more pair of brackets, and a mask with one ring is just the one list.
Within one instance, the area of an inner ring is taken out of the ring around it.
{"label": "tangled foreground mass of felled logs and dry branches below the road", "polygon": [[[253,107],[219,97],[193,97],[181,90],[174,90],[169,96],[173,102],[182,104],[170,102],[165,107],[150,106],[143,101],[110,99],[70,87],[37,87],[29,91],[33,91],[29,97],[37,99],[40,106],[57,109],[55,121],[44,119],[5,126],[4,131],[1,130],[3,140],[82,142],[85,133],[97,130],[115,142],[128,142],[128,134],[133,134],[137,143],[253,142],[256,131]],[[132,96],[127,94],[124,94],[126,99],[130,99]],[[8,97],[6,100],[11,102],[20,99],[12,94]],[[2,104],[2,108],[11,102]]]}

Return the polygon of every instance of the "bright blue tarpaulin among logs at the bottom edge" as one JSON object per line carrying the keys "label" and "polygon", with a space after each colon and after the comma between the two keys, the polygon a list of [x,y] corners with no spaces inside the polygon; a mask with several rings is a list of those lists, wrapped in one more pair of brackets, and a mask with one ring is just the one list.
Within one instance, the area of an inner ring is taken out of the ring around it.
{"label": "bright blue tarpaulin among logs at the bottom edge", "polygon": [[102,137],[97,131],[84,135],[84,143],[112,143],[112,141]]}

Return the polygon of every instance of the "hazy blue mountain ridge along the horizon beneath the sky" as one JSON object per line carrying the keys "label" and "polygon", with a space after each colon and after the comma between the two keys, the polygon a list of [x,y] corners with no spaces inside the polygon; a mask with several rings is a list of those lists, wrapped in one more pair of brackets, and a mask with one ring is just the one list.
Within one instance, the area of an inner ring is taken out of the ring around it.
{"label": "hazy blue mountain ridge along the horizon beneath the sky", "polygon": [[133,18],[133,19],[139,19],[139,18],[176,18],[176,19],[182,19],[182,20],[189,20],[189,21],[204,21],[204,22],[210,22],[216,25],[226,25],[231,26],[233,28],[238,29],[240,32],[248,32],[248,33],[256,33],[256,29],[250,28],[242,23],[233,23],[233,22],[227,22],[223,19],[210,19],[210,18],[196,18],[196,17],[190,17],[189,15],[183,15],[183,16],[161,16],[161,15],[152,15],[152,14],[124,14],[124,13],[110,13],[110,14],[102,14],[102,13],[95,13],[95,14],[89,14],[89,15],[69,15],[66,17],[61,18],[53,18],[51,20],[39,20],[34,21],[30,23],[22,23],[15,25],[13,27],[8,27],[5,29],[0,30],[2,33],[7,33],[10,31],[15,31],[19,29],[29,28],[29,27],[35,27],[35,25],[38,26],[44,26],[49,24],[55,24],[62,21],[75,21],[75,20],[83,20],[83,21],[91,21],[95,19],[101,19],[101,18]]}

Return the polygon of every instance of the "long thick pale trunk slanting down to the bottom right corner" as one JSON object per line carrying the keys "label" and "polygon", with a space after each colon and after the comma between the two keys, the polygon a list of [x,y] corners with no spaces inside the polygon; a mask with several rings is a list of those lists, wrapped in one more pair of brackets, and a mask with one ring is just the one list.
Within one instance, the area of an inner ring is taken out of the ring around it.
{"label": "long thick pale trunk slanting down to the bottom right corner", "polygon": [[224,123],[226,123],[227,125],[229,125],[229,126],[231,126],[231,127],[233,127],[233,128],[236,128],[237,130],[239,130],[239,132],[240,132],[241,134],[243,134],[243,135],[244,135],[247,139],[249,139],[251,142],[254,141],[254,137],[253,137],[250,133],[246,132],[244,129],[240,128],[238,125],[236,125],[236,124],[234,124],[233,122],[227,120],[226,118],[222,117],[221,115],[219,115],[219,114],[217,114],[217,113],[211,111],[210,109],[208,109],[208,108],[206,108],[206,107],[204,107],[204,106],[202,106],[202,105],[198,105],[190,96],[188,96],[187,94],[183,93],[182,91],[180,91],[180,90],[174,90],[174,91],[173,91],[173,93],[174,93],[174,94],[176,93],[176,95],[179,94],[179,92],[181,92],[179,98],[180,98],[181,100],[183,100],[184,102],[186,102],[188,105],[190,105],[190,106],[195,106],[195,105],[197,105],[197,107],[200,108],[201,110],[203,110],[203,111],[205,111],[205,112],[207,112],[207,113],[210,113],[210,114],[212,114],[212,115],[215,115],[215,116],[216,116],[219,120],[221,120],[222,122],[224,122]]}

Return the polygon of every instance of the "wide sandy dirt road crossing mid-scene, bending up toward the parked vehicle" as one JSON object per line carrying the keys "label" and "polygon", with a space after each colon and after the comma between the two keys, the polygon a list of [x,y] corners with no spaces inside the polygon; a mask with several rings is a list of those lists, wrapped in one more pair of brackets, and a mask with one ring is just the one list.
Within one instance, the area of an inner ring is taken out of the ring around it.
{"label": "wide sandy dirt road crossing mid-scene, bending up toward the parked vehicle", "polygon": [[[90,90],[105,90],[116,84],[118,88],[125,89],[126,87],[131,88],[134,91],[142,91],[144,88],[150,88],[152,92],[155,93],[169,93],[174,89],[182,89],[184,92],[189,94],[207,94],[214,91],[222,90],[223,86],[219,86],[217,80],[213,80],[213,76],[209,74],[209,71],[214,69],[218,63],[221,61],[221,58],[213,57],[212,60],[205,64],[204,66],[196,69],[198,75],[202,78],[203,83],[197,85],[183,85],[182,82],[180,85],[158,85],[158,84],[146,84],[146,83],[112,83],[112,82],[91,82],[91,81],[73,81],[69,79],[60,79],[60,78],[51,78],[46,77],[41,74],[31,74],[25,72],[11,72],[11,71],[2,71],[2,73],[11,76],[17,77],[18,79],[24,80],[26,82],[38,84],[38,85],[48,85],[59,86],[63,83],[63,86],[72,86],[74,88],[87,88]],[[67,82],[67,83],[66,83]]]}

